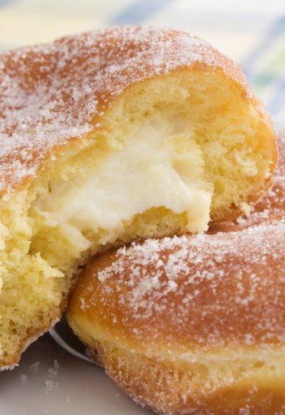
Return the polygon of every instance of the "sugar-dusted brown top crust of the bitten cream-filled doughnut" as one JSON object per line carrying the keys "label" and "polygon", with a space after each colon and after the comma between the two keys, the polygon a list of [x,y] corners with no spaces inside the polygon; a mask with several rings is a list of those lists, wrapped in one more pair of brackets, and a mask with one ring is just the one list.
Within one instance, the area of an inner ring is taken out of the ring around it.
{"label": "sugar-dusted brown top crust of the bitten cream-filled doughnut", "polygon": [[0,192],[33,177],[52,148],[100,128],[129,85],[185,65],[220,68],[251,94],[241,69],[190,34],[116,27],[0,56]]}

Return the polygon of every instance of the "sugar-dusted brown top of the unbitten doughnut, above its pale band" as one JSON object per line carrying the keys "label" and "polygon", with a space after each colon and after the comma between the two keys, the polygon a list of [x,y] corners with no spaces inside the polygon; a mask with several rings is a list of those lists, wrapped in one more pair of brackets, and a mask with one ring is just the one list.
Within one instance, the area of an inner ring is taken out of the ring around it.
{"label": "sugar-dusted brown top of the unbitten doughnut, above its pale band", "polygon": [[285,139],[279,144],[277,181],[254,223],[120,248],[96,270],[85,309],[96,307],[120,338],[175,338],[187,347],[284,343]]}

